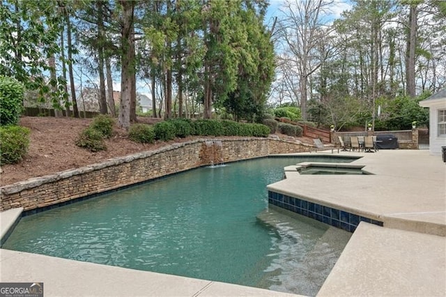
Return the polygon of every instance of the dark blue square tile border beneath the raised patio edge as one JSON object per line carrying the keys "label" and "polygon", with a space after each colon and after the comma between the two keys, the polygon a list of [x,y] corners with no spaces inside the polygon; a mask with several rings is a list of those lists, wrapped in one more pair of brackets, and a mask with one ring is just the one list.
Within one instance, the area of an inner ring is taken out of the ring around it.
{"label": "dark blue square tile border beneath the raised patio edge", "polygon": [[383,222],[372,220],[371,218],[277,192],[268,191],[268,203],[349,232],[354,232],[357,225],[362,221],[383,227]]}

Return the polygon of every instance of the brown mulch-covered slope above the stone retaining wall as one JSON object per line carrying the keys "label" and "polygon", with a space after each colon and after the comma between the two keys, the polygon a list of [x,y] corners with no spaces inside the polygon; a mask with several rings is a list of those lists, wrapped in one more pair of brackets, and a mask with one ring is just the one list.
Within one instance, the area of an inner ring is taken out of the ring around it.
{"label": "brown mulch-covered slope above the stone retaining wall", "polygon": [[[141,118],[139,121],[153,123],[157,120]],[[115,127],[113,136],[105,141],[107,151],[91,153],[75,145],[75,139],[79,132],[90,123],[91,119],[22,117],[20,125],[31,130],[28,155],[19,164],[1,167],[0,185],[8,185],[36,176],[54,174],[102,162],[109,158],[150,151],[166,144],[193,139],[193,137],[189,137],[175,139],[169,143],[137,144],[127,138],[125,130]],[[279,137],[289,138],[285,135],[279,135]],[[312,139],[307,137],[299,137],[298,139],[301,142],[312,144]]]}

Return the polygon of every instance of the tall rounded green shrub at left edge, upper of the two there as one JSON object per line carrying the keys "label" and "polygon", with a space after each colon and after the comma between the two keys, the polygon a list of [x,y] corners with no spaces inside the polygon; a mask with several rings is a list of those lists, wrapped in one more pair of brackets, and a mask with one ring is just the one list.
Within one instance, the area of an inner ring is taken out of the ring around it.
{"label": "tall rounded green shrub at left edge, upper of the two there", "polygon": [[0,76],[0,125],[17,125],[23,94],[24,87],[17,79]]}

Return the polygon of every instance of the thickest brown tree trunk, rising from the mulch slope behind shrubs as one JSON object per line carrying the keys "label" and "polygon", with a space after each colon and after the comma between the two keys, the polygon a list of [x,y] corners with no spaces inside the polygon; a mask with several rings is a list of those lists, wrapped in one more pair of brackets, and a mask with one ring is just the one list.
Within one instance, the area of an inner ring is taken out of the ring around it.
{"label": "thickest brown tree trunk, rising from the mulch slope behind shrubs", "polygon": [[130,100],[132,89],[132,22],[134,3],[119,1],[123,8],[121,13],[121,99],[118,116],[118,126],[128,130],[130,128]]}

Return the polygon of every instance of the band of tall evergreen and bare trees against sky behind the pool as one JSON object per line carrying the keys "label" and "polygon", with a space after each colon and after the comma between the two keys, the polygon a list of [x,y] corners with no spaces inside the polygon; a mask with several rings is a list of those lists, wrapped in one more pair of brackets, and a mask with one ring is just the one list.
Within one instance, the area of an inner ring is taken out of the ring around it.
{"label": "band of tall evergreen and bare trees against sky behind the pool", "polygon": [[355,0],[340,15],[334,4],[284,0],[268,26],[268,0],[1,0],[0,75],[73,116],[86,87],[114,115],[118,85],[124,128],[141,85],[164,118],[260,121],[288,103],[337,128],[426,123],[420,96],[446,84],[445,3]]}

